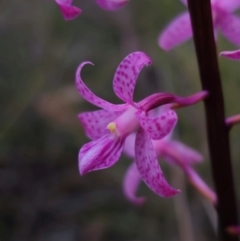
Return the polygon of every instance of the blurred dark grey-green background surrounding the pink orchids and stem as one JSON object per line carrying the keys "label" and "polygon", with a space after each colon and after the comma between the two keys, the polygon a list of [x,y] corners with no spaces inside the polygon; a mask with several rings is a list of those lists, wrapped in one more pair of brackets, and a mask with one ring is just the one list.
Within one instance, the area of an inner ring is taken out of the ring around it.
{"label": "blurred dark grey-green background surrounding the pink orchids and stem", "polygon": [[[136,50],[153,64],[141,72],[134,99],[156,91],[187,96],[200,81],[192,40],[166,53],[157,45],[164,26],[185,7],[178,0],[131,0],[105,12],[94,0],[75,0],[83,13],[63,20],[53,1],[0,2],[0,240],[3,241],[201,241],[216,239],[215,211],[181,170],[161,166],[181,194],[155,195],[144,184],[140,207],[122,193],[126,157],[107,170],[81,177],[78,151],[88,141],[77,114],[96,108],[75,88],[75,70],[92,61],[82,77],[104,99],[117,65]],[[218,52],[235,49],[222,36]],[[226,114],[240,107],[240,63],[219,59]],[[196,166],[213,187],[203,105],[178,110],[176,137],[204,155]],[[240,184],[240,128],[231,132],[236,190]],[[238,190],[237,190],[238,191]],[[238,195],[239,203],[239,195]]]}

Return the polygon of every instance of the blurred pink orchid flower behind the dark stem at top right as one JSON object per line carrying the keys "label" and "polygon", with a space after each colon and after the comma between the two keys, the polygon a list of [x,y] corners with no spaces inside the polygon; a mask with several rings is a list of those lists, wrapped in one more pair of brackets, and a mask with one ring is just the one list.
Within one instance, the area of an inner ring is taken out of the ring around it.
{"label": "blurred pink orchid flower behind the dark stem at top right", "polygon": [[[187,5],[187,0],[181,0]],[[239,0],[211,0],[214,30],[219,30],[230,42],[240,46],[240,18],[232,12],[240,7]],[[176,17],[159,35],[158,44],[170,50],[192,36],[188,12]],[[216,34],[215,34],[216,36]]]}

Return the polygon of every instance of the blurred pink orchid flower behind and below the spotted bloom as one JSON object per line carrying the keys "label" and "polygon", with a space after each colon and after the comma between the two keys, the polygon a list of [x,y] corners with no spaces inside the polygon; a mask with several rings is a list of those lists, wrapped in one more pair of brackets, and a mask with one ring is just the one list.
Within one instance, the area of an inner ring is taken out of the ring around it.
{"label": "blurred pink orchid flower behind and below the spotted bloom", "polygon": [[[136,196],[137,189],[142,180],[139,174],[139,155],[134,151],[136,142],[136,135],[131,134],[125,141],[125,153],[135,159],[123,179],[123,191],[126,198],[136,205],[141,205],[145,202],[145,197]],[[169,164],[179,166],[186,174],[191,184],[207,199],[216,203],[215,193],[205,184],[199,175],[191,167],[195,163],[202,161],[202,155],[194,149],[186,146],[185,144],[171,140],[171,134],[161,140],[152,140],[153,148],[159,158],[165,159]]]}

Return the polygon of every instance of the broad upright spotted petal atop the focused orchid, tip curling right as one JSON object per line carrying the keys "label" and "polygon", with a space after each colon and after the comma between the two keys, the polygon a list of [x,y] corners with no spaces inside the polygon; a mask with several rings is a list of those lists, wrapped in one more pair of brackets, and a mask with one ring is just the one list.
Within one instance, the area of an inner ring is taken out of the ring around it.
{"label": "broad upright spotted petal atop the focused orchid, tip curling right", "polygon": [[133,103],[133,92],[137,77],[145,65],[151,64],[151,59],[143,52],[129,54],[118,66],[113,78],[113,89],[116,95],[126,103]]}

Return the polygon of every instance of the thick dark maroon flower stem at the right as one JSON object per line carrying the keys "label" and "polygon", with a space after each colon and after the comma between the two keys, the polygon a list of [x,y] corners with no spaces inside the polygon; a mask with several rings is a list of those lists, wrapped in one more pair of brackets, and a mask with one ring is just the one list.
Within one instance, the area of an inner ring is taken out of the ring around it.
{"label": "thick dark maroon flower stem at the right", "polygon": [[225,124],[224,101],[217,63],[210,0],[188,0],[194,43],[202,88],[209,92],[205,100],[206,122],[212,174],[216,187],[219,235],[223,241],[236,241],[226,232],[237,225],[237,208],[229,147],[228,127]]}

